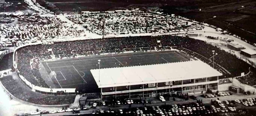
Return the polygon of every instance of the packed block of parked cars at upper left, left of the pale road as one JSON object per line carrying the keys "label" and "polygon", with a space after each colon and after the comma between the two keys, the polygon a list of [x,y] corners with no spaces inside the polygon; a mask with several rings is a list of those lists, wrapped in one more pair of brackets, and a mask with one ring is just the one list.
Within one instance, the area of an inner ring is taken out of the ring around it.
{"label": "packed block of parked cars at upper left, left of the pale road", "polygon": [[[22,16],[20,16],[22,17]],[[25,16],[24,16],[25,17]],[[31,16],[29,16],[31,17]],[[34,17],[34,16],[32,16]],[[34,17],[36,18],[36,17]],[[40,19],[38,19],[40,21]],[[42,19],[41,19],[42,20]],[[48,24],[44,24],[47,20]],[[76,30],[73,26],[63,25],[65,22],[57,17],[45,17],[42,24],[16,24],[0,25],[0,47],[8,45],[20,46],[23,44],[43,42],[51,43],[57,39],[59,25],[59,38],[80,37],[82,31]]]}

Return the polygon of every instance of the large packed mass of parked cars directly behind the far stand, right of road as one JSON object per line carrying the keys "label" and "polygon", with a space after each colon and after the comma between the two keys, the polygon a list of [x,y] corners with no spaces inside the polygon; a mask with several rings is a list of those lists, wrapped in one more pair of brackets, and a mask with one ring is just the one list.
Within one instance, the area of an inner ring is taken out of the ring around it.
{"label": "large packed mass of parked cars directly behind the far stand, right of road", "polygon": [[[184,31],[182,28],[186,28],[190,24],[176,17],[150,13],[83,14],[80,16],[71,15],[67,18],[76,24],[86,24],[84,25],[85,28],[99,35],[103,34],[103,19],[105,20],[104,30],[106,35],[146,32],[154,34],[169,33]],[[146,27],[148,27],[147,31]]]}

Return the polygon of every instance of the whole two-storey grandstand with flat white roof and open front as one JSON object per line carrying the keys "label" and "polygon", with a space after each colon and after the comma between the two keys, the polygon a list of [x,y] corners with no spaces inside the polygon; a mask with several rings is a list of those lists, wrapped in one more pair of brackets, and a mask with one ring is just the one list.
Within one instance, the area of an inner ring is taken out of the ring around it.
{"label": "whole two-storey grandstand with flat white roof and open front", "polygon": [[101,90],[101,100],[195,94],[207,89],[215,92],[222,75],[200,60],[90,71]]}

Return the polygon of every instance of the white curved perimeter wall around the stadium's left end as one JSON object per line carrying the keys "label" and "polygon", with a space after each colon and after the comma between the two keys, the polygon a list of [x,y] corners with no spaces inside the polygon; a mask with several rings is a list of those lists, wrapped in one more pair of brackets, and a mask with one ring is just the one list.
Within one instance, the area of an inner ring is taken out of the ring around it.
{"label": "white curved perimeter wall around the stadium's left end", "polygon": [[[25,47],[25,46],[29,46],[29,45],[38,45],[38,44],[43,44],[43,43],[32,43],[32,44],[26,44],[26,45],[22,45],[22,46],[18,46],[13,53],[13,68],[15,69],[15,72],[18,74],[19,78],[22,80],[22,82],[27,85],[32,91],[34,92],[39,92],[42,94],[55,94],[57,92],[60,91],[66,91],[67,94],[75,94],[75,90],[76,88],[61,88],[61,89],[55,89],[55,88],[44,88],[44,87],[39,87],[39,86],[35,86],[33,84],[31,84],[26,78],[24,78],[22,75],[19,74],[19,70],[17,68],[17,59],[15,59],[16,56],[16,50]],[[52,91],[52,92],[51,92]]]}

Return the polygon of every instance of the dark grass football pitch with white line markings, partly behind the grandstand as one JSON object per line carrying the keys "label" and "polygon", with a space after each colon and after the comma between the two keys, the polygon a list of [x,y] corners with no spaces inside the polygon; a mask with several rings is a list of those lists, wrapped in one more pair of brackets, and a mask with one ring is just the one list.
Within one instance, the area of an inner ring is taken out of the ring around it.
{"label": "dark grass football pitch with white line markings, partly behind the grandstand", "polygon": [[55,71],[60,87],[84,89],[86,93],[93,93],[99,92],[99,89],[90,70],[99,68],[98,59],[101,60],[100,68],[111,68],[188,61],[190,58],[192,57],[184,53],[159,51],[88,56],[42,63],[46,70]]}

